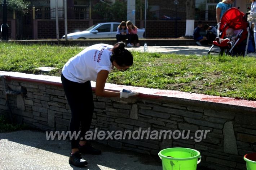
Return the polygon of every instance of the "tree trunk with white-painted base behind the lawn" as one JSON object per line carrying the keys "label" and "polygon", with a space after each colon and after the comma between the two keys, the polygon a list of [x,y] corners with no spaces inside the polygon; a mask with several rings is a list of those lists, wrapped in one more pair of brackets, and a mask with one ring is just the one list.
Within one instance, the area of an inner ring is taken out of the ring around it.
{"label": "tree trunk with white-painted base behind the lawn", "polygon": [[193,36],[195,23],[195,0],[186,0],[186,33],[185,36]]}

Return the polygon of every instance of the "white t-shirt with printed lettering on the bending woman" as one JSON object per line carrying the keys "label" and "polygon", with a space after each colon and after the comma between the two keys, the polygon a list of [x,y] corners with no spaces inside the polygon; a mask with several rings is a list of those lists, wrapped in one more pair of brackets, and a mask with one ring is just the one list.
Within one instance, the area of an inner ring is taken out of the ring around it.
{"label": "white t-shirt with printed lettering on the bending woman", "polygon": [[85,83],[96,81],[101,70],[111,72],[110,56],[112,45],[96,44],[87,47],[78,55],[72,57],[62,68],[64,77],[72,82]]}

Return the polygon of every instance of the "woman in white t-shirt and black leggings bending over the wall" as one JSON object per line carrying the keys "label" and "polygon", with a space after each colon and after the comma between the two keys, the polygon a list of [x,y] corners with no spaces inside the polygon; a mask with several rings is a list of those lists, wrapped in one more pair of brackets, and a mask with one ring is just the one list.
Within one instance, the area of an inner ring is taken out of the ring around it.
{"label": "woman in white t-shirt and black leggings bending over the wall", "polygon": [[90,81],[96,81],[95,93],[97,96],[128,98],[138,95],[136,92],[112,92],[104,89],[107,77],[114,67],[125,71],[133,64],[131,52],[124,47],[124,42],[118,42],[114,46],[96,44],[87,47],[63,66],[61,81],[71,110],[71,133],[78,134],[81,125],[80,140],[71,139],[72,152],[69,163],[72,165],[85,166],[88,164],[81,157],[81,153],[101,154],[100,150],[93,148],[85,139],[85,134],[90,129],[94,110]]}

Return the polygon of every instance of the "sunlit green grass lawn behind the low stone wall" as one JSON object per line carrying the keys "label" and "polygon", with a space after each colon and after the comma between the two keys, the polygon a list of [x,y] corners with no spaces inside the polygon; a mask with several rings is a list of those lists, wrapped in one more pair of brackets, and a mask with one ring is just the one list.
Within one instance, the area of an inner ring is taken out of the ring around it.
{"label": "sunlit green grass lawn behind the low stone wall", "polygon": [[[60,76],[66,61],[81,50],[1,42],[0,70],[38,74],[35,68],[50,66],[58,69],[48,75]],[[132,53],[133,66],[126,72],[113,70],[108,83],[256,100],[254,57]]]}

